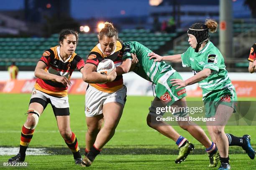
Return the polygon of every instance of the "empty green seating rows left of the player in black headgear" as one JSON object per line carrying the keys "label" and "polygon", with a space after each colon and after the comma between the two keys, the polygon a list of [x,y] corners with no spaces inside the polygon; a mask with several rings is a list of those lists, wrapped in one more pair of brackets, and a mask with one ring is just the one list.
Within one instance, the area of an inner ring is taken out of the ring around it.
{"label": "empty green seating rows left of the player in black headgear", "polygon": [[[58,45],[58,34],[44,37],[0,38],[0,67],[16,61],[17,66],[36,66],[36,62],[44,50]],[[177,33],[151,33],[150,30],[127,29],[120,32],[119,37],[125,41],[138,41],[151,50],[159,50],[166,42],[171,41]],[[76,49],[77,54],[86,59],[90,50],[97,44],[97,34],[80,34]],[[1,67],[2,68],[2,67]],[[4,69],[5,70],[5,69]]]}

